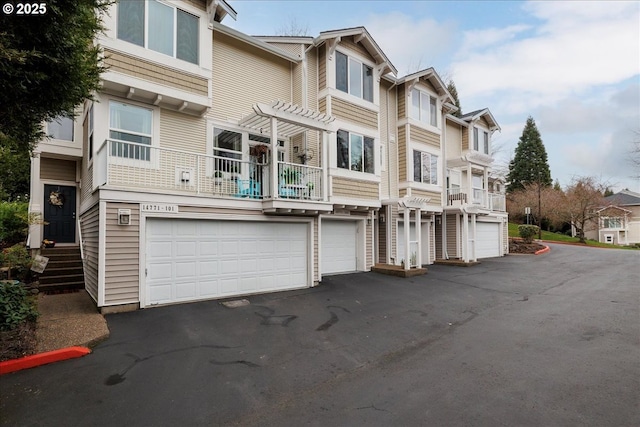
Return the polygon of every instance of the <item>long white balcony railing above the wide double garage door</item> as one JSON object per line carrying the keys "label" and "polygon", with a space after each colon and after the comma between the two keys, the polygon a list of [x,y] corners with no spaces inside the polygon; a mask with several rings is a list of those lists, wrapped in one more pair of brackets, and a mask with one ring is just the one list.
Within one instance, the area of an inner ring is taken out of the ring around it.
{"label": "long white balcony railing above the wide double garage door", "polygon": [[[154,189],[213,197],[270,199],[271,166],[240,154],[206,155],[121,140],[98,149],[94,186]],[[278,196],[322,200],[322,168],[278,162]]]}

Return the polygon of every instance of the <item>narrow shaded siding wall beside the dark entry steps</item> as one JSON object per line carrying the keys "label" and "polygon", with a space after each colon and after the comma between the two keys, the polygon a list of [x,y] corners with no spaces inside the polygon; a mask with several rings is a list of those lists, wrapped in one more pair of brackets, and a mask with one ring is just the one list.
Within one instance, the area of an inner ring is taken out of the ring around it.
{"label": "narrow shaded siding wall beside the dark entry steps", "polygon": [[98,234],[100,229],[99,205],[94,205],[80,218],[82,245],[84,253],[84,285],[95,301],[98,301]]}

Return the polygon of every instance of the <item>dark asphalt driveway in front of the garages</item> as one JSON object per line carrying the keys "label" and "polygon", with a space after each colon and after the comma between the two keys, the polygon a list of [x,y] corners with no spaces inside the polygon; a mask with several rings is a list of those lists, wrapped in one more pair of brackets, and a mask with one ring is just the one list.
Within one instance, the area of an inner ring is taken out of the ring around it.
{"label": "dark asphalt driveway in front of the garages", "polygon": [[109,315],[93,354],[0,378],[1,424],[638,425],[640,252],[551,247]]}

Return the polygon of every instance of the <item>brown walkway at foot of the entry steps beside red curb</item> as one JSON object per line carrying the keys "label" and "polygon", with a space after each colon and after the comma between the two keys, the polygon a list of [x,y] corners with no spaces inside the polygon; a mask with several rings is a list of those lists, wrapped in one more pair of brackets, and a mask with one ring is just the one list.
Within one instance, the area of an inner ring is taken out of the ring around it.
{"label": "brown walkway at foot of the entry steps beside red curb", "polygon": [[86,291],[38,296],[37,352],[93,347],[109,337],[102,314]]}

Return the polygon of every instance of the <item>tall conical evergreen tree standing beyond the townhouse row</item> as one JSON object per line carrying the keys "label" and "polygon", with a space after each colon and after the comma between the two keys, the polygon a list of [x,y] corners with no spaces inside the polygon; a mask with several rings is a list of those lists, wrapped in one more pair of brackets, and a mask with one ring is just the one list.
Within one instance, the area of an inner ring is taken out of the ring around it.
{"label": "tall conical evergreen tree standing beyond the townhouse row", "polygon": [[507,192],[524,189],[527,184],[537,184],[541,187],[551,186],[551,171],[547,162],[547,151],[542,143],[536,122],[531,116],[522,131],[522,136],[516,147],[515,156],[509,163],[507,175]]}

